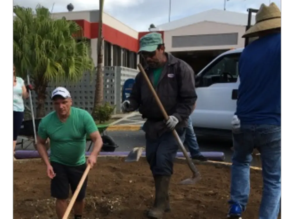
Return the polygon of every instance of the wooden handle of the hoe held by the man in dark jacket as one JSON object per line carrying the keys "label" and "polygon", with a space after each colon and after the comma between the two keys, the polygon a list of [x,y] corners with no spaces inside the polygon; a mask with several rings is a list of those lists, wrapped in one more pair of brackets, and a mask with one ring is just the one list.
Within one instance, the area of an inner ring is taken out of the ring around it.
{"label": "wooden handle of the hoe held by the man in dark jacket", "polygon": [[[142,67],[141,64],[138,64],[138,68],[139,68],[140,72],[143,74],[143,76],[144,76],[144,78],[145,78],[145,80],[147,82],[147,85],[148,85],[149,89],[151,90],[151,92],[152,92],[152,94],[153,94],[153,96],[154,96],[154,98],[155,98],[155,100],[156,100],[156,102],[157,102],[157,104],[158,104],[163,116],[164,116],[164,119],[167,121],[169,119],[168,114],[166,113],[166,111],[165,111],[165,109],[164,109],[164,107],[163,107],[163,105],[162,105],[162,103],[161,103],[156,91],[154,90],[154,88],[153,88],[153,86],[152,86],[152,84],[151,84],[151,82],[150,82],[150,80],[149,80],[149,78],[148,78],[148,76],[147,76],[147,74],[146,74],[146,72],[144,70],[144,68]],[[196,166],[194,165],[194,163],[192,162],[192,160],[190,159],[189,155],[187,154],[187,150],[185,149],[185,146],[183,145],[183,142],[180,140],[180,137],[178,136],[178,133],[176,132],[175,129],[172,131],[172,133],[173,133],[175,139],[177,140],[178,145],[180,146],[180,149],[183,151],[183,155],[185,156],[185,159],[187,160],[187,164],[190,167],[194,177],[199,176],[200,173],[199,173],[198,169],[196,168]]]}

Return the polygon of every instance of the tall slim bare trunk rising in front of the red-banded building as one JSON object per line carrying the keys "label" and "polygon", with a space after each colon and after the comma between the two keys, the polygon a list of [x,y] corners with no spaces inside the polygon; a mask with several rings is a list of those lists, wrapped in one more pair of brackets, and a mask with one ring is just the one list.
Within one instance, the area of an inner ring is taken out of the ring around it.
{"label": "tall slim bare trunk rising in front of the red-banded building", "polygon": [[[102,13],[104,0],[99,0],[99,21],[98,21],[98,39],[97,39],[97,72],[94,96],[94,109],[103,102],[103,35],[102,35]],[[93,112],[95,111],[93,109]]]}

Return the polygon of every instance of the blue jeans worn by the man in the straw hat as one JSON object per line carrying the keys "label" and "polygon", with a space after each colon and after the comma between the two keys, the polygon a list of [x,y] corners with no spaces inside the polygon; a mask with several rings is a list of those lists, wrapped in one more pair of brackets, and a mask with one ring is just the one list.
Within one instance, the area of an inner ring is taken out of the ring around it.
{"label": "blue jeans worn by the man in the straw hat", "polygon": [[259,219],[277,219],[281,198],[281,126],[241,125],[233,132],[230,204],[246,208],[250,191],[252,152],[260,152],[263,168],[263,196]]}

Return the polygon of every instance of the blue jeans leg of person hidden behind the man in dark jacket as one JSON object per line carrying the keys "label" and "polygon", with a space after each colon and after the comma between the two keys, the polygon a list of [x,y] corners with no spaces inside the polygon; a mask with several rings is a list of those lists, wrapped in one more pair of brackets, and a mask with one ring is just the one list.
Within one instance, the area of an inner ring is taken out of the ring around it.
{"label": "blue jeans leg of person hidden behind the man in dark jacket", "polygon": [[199,145],[197,142],[197,137],[194,132],[193,123],[191,117],[187,120],[187,129],[185,133],[185,143],[187,144],[187,147],[189,148],[191,157],[197,157],[201,155],[201,152],[199,152]]}

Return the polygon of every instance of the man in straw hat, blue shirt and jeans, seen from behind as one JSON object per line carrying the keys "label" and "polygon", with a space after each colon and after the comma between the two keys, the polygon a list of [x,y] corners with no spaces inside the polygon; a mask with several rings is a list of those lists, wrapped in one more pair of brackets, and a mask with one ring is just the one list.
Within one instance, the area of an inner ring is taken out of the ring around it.
{"label": "man in straw hat, blue shirt and jeans, seen from behind", "polygon": [[263,197],[259,219],[276,219],[281,198],[281,11],[262,4],[256,24],[243,35],[258,37],[239,60],[240,85],[232,121],[233,146],[228,218],[241,218],[250,190],[252,152],[260,152]]}

